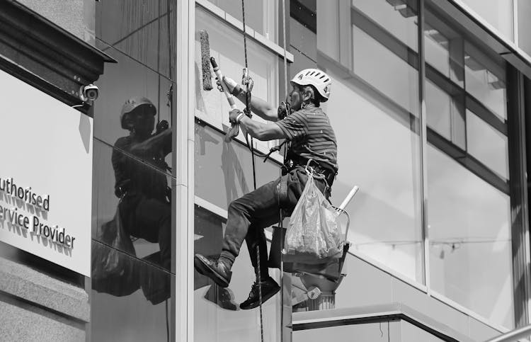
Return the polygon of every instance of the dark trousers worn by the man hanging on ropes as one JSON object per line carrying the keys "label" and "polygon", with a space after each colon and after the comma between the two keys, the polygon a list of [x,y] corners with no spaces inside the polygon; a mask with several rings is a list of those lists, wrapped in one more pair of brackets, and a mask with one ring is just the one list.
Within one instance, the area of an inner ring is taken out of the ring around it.
{"label": "dark trousers worn by the man hanging on ropes", "polygon": [[[229,205],[222,250],[228,251],[236,258],[245,240],[251,263],[257,269],[256,246],[258,246],[261,275],[267,275],[268,249],[263,229],[280,221],[280,208],[286,216],[291,215],[307,180],[304,168],[297,167],[275,181],[232,201]],[[317,179],[315,182],[317,188],[325,193],[326,182]]]}

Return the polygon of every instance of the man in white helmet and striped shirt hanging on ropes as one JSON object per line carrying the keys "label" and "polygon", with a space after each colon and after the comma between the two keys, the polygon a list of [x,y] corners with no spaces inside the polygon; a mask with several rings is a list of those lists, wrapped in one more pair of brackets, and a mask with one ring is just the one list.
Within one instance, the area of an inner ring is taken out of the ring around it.
{"label": "man in white helmet and striped shirt hanging on ropes", "polygon": [[307,164],[312,166],[314,172],[324,175],[315,179],[316,186],[326,198],[330,195],[330,187],[338,171],[337,142],[320,103],[329,99],[331,79],[319,69],[302,70],[291,80],[292,89],[285,103],[282,102],[278,108],[254,96],[249,100],[249,94],[232,79],[224,77],[222,81],[241,102],[249,101],[253,113],[273,123],[252,120],[239,110],[231,110],[230,122],[241,125],[256,139],[287,139],[290,142],[282,176],[230,203],[219,258],[210,259],[200,254],[195,254],[194,258],[194,266],[199,273],[221,287],[228,287],[232,264],[245,240],[257,277],[249,298],[240,304],[240,308],[253,309],[260,304],[260,287],[262,302],[280,290],[268,272],[263,229],[279,222],[280,210],[290,215],[295,209],[307,182]]}

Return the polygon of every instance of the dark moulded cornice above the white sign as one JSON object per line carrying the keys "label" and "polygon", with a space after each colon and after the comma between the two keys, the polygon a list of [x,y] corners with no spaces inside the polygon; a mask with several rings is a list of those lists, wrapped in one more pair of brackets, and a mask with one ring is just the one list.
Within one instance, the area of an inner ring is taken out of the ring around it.
{"label": "dark moulded cornice above the white sign", "polygon": [[0,1],[0,69],[74,106],[105,62],[116,61],[17,1]]}

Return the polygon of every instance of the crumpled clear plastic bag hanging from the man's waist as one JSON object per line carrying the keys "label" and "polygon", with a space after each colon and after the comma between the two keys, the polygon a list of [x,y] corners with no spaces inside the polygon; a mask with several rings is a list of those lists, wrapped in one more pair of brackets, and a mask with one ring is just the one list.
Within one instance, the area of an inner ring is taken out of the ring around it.
{"label": "crumpled clear plastic bag hanging from the man's waist", "polygon": [[312,172],[290,218],[284,240],[284,262],[321,264],[340,258],[343,239],[339,213],[315,185]]}

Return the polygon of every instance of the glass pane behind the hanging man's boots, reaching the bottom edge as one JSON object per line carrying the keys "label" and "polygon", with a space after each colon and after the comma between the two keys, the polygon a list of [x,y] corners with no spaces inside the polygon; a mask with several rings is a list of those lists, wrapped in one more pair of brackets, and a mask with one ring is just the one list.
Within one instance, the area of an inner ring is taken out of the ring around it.
{"label": "glass pane behind the hanging man's boots, reaching the bottom edge", "polygon": [[[194,250],[207,257],[217,257],[226,219],[214,214],[205,207],[195,206]],[[261,336],[260,313],[258,308],[239,309],[255,280],[253,266],[246,247],[232,268],[232,281],[227,288],[219,287],[212,280],[194,273],[194,341],[259,341]],[[270,270],[270,275],[278,280],[278,272]],[[264,341],[280,341],[280,295],[275,295],[263,303]]]}

